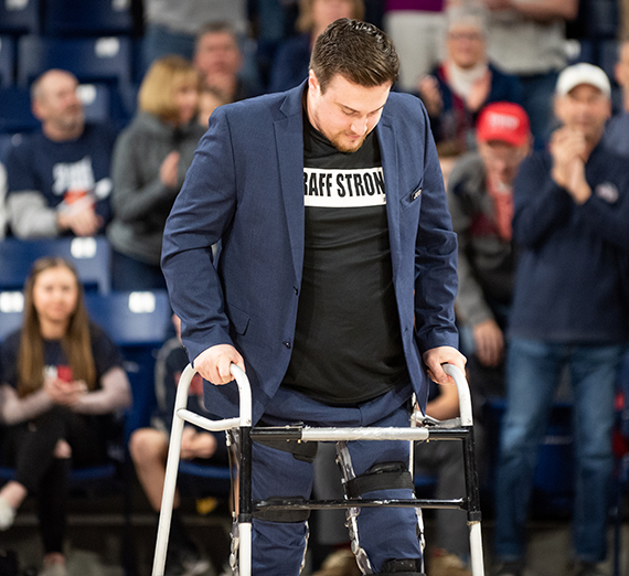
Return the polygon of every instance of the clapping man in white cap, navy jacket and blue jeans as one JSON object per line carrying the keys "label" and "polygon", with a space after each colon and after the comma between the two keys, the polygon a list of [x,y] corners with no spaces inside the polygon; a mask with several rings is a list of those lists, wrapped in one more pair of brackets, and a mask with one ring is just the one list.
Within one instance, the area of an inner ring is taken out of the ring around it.
{"label": "clapping man in white cap, navy jacket and blue jeans", "polygon": [[629,338],[629,166],[600,143],[611,111],[606,74],[564,70],[547,151],[514,185],[519,259],[510,316],[508,397],[495,490],[502,576],[521,576],[537,447],[563,367],[574,403],[575,576],[598,576],[607,553],[615,384]]}

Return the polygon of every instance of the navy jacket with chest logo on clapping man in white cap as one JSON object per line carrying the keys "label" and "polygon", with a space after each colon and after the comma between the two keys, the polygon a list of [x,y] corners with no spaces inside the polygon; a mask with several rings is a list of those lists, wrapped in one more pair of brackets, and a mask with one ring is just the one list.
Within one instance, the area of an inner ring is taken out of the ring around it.
{"label": "navy jacket with chest logo on clapping man in white cap", "polygon": [[547,151],[524,160],[514,185],[519,245],[510,333],[605,344],[629,337],[629,163],[598,145],[586,163],[593,194],[577,205],[551,178]]}

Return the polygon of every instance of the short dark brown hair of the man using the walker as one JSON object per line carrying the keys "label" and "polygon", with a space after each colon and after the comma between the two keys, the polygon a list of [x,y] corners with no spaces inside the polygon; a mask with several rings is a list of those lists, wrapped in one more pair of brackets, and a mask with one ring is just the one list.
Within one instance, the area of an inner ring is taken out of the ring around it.
{"label": "short dark brown hair of the man using the walker", "polygon": [[394,84],[399,74],[399,57],[392,40],[367,22],[341,18],[322,32],[312,49],[310,70],[321,92],[340,74],[364,87]]}

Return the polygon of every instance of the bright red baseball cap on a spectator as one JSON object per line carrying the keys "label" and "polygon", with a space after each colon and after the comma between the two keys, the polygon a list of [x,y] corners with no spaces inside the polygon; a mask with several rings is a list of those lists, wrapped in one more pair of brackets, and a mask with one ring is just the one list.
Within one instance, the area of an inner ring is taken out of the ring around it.
{"label": "bright red baseball cap on a spectator", "polygon": [[531,122],[524,108],[511,102],[497,102],[486,106],[476,124],[476,136],[481,142],[500,140],[524,146],[531,138]]}

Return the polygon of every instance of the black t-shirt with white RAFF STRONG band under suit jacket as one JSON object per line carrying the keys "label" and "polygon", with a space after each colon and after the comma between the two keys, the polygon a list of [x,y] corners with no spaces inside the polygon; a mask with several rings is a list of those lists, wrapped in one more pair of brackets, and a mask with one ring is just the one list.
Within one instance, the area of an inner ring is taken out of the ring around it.
{"label": "black t-shirt with white RAFF STRONG band under suit jacket", "polygon": [[375,130],[340,152],[305,115],[303,166],[303,277],[282,384],[330,404],[365,402],[407,377]]}

